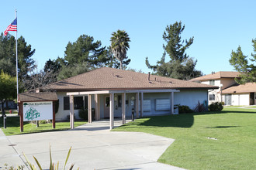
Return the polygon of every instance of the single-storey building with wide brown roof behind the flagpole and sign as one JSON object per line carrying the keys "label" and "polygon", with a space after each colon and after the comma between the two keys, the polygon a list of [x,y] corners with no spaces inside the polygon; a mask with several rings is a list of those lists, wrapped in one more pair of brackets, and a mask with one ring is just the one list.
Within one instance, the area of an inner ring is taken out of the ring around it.
{"label": "single-storey building with wide brown roof behind the flagpole and sign", "polygon": [[194,109],[198,101],[208,103],[208,90],[218,87],[102,67],[57,81],[49,88],[57,92],[56,120],[61,121],[67,119],[71,110],[78,117],[78,110],[85,107],[89,112],[95,109],[96,120],[130,117],[132,110],[136,117],[175,114],[175,104]]}

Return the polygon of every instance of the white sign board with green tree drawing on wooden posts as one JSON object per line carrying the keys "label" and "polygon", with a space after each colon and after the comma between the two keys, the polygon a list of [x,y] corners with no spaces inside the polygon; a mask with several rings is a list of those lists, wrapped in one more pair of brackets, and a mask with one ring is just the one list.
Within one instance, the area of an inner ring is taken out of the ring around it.
{"label": "white sign board with green tree drawing on wooden posts", "polygon": [[40,121],[53,119],[53,102],[24,102],[23,121]]}

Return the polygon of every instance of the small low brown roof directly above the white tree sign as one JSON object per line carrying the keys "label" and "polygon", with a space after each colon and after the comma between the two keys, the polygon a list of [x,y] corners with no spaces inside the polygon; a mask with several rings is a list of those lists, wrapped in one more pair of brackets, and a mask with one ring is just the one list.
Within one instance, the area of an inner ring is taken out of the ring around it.
{"label": "small low brown roof directly above the white tree sign", "polygon": [[19,102],[21,101],[53,101],[57,100],[57,93],[40,92],[40,93],[19,93]]}

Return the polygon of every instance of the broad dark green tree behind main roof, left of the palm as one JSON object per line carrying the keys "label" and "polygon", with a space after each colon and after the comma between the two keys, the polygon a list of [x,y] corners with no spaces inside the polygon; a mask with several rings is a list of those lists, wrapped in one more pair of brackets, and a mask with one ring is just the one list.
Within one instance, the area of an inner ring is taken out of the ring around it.
{"label": "broad dark green tree behind main roof, left of the palm", "polygon": [[68,42],[64,58],[48,60],[44,70],[54,70],[57,80],[63,80],[102,66],[115,66],[112,53],[95,41],[92,36],[81,35],[75,42]]}

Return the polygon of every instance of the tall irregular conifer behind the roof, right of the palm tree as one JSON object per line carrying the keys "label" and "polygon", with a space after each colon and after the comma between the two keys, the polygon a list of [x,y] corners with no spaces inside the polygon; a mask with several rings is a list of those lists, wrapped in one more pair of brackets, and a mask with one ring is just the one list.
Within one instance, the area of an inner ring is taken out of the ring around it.
{"label": "tall irregular conifer behind the roof, right of the palm tree", "polygon": [[[190,80],[202,76],[201,71],[195,70],[197,60],[194,61],[185,53],[185,50],[192,45],[194,37],[182,40],[181,34],[184,29],[185,26],[182,26],[182,22],[175,22],[167,26],[163,34],[166,44],[163,45],[164,54],[161,59],[157,61],[156,65],[150,65],[146,57],[147,67],[154,70],[157,75],[180,80]],[[170,57],[168,62],[165,62],[166,54]]]}

